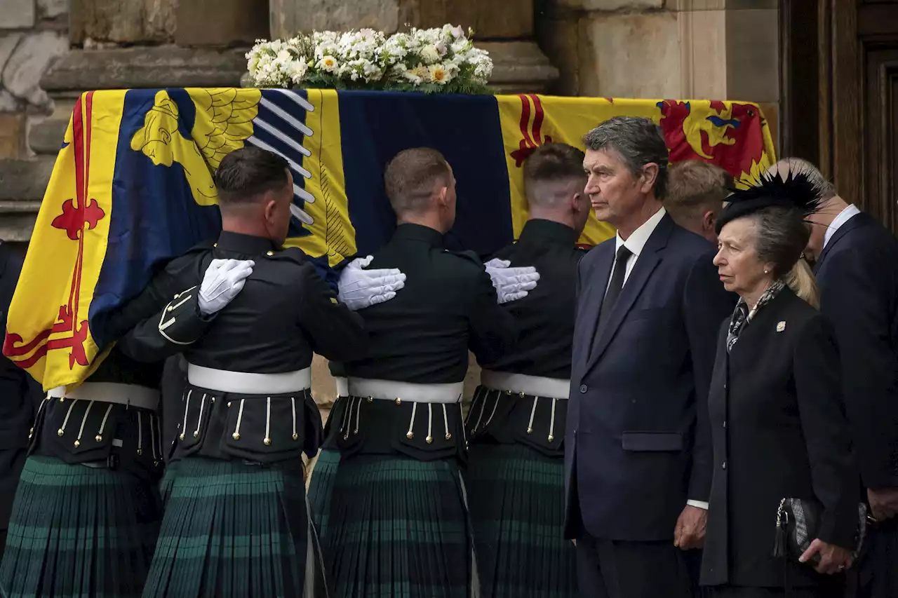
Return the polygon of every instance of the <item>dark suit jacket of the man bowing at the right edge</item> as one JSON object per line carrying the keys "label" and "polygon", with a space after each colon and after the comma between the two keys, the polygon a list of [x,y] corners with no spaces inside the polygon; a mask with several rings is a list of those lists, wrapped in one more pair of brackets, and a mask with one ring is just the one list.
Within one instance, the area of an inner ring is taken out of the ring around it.
{"label": "dark suit jacket of the man bowing at the right edge", "polygon": [[826,243],[815,273],[839,339],[864,485],[898,487],[898,241],[872,216],[855,215]]}

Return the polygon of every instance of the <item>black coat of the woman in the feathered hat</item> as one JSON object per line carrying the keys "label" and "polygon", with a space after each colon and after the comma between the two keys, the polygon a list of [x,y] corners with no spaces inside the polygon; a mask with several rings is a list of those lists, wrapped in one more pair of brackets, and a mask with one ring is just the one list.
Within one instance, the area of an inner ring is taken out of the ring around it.
{"label": "black coat of the woman in the feathered hat", "polygon": [[[831,322],[788,287],[728,355],[727,324],[709,396],[714,482],[701,583],[781,587],[783,561],[771,552],[782,498],[816,498],[824,509],[817,537],[853,548],[858,474],[839,350]],[[789,569],[793,585],[819,581],[809,566]]]}

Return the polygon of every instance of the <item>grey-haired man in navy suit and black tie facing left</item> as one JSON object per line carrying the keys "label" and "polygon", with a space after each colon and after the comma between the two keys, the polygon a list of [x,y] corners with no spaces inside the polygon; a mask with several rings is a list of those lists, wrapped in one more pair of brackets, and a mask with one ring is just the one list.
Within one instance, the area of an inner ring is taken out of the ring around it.
{"label": "grey-haired man in navy suit and black tie facing left", "polygon": [[577,273],[565,528],[584,596],[690,596],[682,550],[704,536],[709,380],[733,302],[713,248],[662,206],[668,157],[655,124],[615,117],[585,146],[585,191],[618,233]]}

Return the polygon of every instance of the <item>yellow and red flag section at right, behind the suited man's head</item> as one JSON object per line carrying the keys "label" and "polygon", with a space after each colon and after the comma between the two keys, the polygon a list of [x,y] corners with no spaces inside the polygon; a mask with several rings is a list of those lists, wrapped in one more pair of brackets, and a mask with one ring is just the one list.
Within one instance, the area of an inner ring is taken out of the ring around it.
{"label": "yellow and red flag section at right, behind the suited man's head", "polygon": [[[583,150],[583,136],[615,116],[652,119],[665,136],[670,161],[716,163],[735,180],[756,180],[775,161],[770,130],[751,102],[563,98],[538,94],[497,96],[511,190],[515,238],[527,220],[524,160],[540,145],[565,143]],[[614,229],[591,215],[581,243],[611,238]]]}

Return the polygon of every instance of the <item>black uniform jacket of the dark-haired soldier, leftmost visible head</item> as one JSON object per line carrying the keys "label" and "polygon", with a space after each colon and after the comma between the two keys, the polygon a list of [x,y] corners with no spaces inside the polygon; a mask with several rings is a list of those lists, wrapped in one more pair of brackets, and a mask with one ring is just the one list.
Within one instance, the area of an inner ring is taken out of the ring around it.
{"label": "black uniform jacket of the dark-haired soldier, leftmost visible head", "polygon": [[[204,317],[198,291],[212,259],[252,259],[255,266],[241,293]],[[172,285],[179,292],[164,294]],[[309,367],[313,353],[356,358],[367,346],[361,318],[339,303],[302,251],[250,235],[223,232],[215,245],[173,260],[122,312],[147,304],[157,313],[119,340],[124,353],[143,361],[182,353],[193,365],[276,374]],[[165,409],[166,417],[178,418],[172,459],[275,462],[303,450],[312,456],[321,443],[321,416],[309,391],[240,395],[188,386],[180,403]]]}

